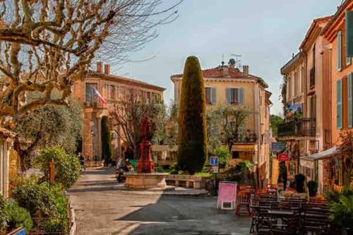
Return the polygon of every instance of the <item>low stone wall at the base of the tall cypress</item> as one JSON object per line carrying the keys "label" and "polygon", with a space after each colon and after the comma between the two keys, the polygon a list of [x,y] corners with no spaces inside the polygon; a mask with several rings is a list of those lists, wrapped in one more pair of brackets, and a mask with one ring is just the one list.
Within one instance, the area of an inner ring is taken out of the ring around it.
{"label": "low stone wall at the base of the tall cypress", "polygon": [[167,185],[185,188],[205,188],[206,181],[203,176],[169,174],[165,177]]}

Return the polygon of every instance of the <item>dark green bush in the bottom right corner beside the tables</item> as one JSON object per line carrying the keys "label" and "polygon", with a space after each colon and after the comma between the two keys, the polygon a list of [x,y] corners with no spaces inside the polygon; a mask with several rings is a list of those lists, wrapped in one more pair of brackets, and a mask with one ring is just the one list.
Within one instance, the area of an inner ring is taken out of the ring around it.
{"label": "dark green bush in the bottom right corner beside the tables", "polygon": [[351,228],[353,224],[353,195],[340,195],[339,201],[330,203],[329,219],[337,227]]}

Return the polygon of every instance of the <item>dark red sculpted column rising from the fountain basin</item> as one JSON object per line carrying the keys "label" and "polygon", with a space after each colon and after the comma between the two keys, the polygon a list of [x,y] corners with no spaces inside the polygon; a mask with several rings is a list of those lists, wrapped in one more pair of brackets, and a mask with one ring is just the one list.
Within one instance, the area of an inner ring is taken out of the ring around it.
{"label": "dark red sculpted column rising from the fountain basin", "polygon": [[143,141],[140,145],[140,159],[138,160],[137,173],[153,173],[155,172],[155,163],[152,160],[152,144],[147,139],[150,121],[145,118],[142,123],[141,131],[143,133]]}

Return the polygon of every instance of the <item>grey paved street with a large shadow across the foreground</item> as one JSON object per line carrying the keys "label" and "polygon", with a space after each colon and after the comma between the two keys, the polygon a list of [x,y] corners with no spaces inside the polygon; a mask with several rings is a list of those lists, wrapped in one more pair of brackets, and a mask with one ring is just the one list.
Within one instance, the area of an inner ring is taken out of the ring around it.
{"label": "grey paved street with a large shadow across the foreground", "polygon": [[114,190],[108,169],[88,169],[71,191],[77,234],[249,234],[251,219],[215,209],[216,198]]}

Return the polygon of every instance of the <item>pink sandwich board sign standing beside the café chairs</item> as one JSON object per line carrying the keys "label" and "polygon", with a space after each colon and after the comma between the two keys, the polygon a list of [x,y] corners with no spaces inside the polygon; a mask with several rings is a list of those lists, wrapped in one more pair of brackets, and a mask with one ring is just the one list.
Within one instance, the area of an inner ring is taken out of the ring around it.
{"label": "pink sandwich board sign standing beside the caf\u00e9 chairs", "polygon": [[237,183],[221,181],[218,190],[217,208],[235,210],[237,200]]}

